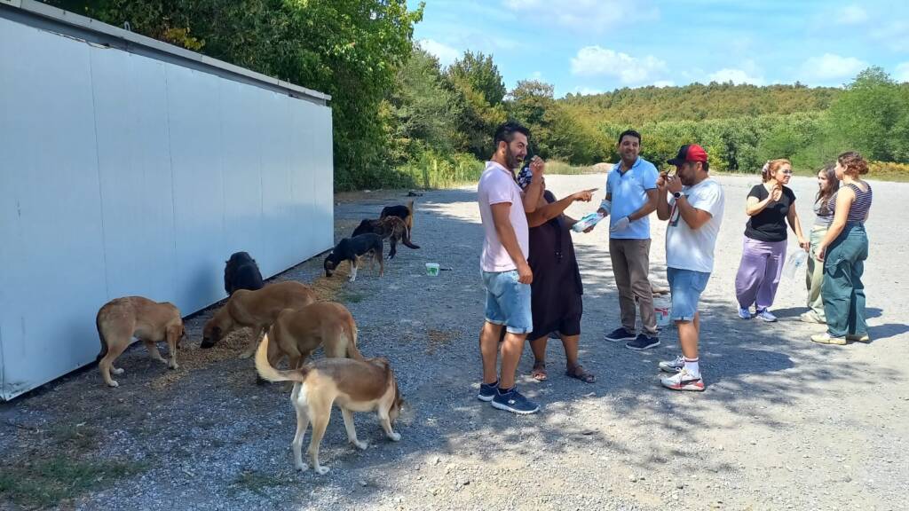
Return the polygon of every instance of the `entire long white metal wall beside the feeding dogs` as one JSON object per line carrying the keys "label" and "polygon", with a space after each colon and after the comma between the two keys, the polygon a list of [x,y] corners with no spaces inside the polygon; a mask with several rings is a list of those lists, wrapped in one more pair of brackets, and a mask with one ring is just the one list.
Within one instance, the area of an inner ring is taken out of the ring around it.
{"label": "entire long white metal wall beside the feeding dogs", "polygon": [[0,17],[0,398],[94,360],[116,296],[185,315],[225,259],[333,244],[331,111]]}

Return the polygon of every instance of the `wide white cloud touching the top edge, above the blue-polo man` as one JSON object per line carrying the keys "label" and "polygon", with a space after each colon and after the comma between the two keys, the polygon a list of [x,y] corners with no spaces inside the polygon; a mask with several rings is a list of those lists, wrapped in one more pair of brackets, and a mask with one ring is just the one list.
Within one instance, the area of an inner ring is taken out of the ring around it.
{"label": "wide white cloud touching the top edge, above the blue-polo man", "polygon": [[504,0],[503,4],[518,15],[526,15],[522,22],[538,20],[542,25],[554,22],[588,32],[603,32],[614,25],[655,20],[660,16],[648,0]]}

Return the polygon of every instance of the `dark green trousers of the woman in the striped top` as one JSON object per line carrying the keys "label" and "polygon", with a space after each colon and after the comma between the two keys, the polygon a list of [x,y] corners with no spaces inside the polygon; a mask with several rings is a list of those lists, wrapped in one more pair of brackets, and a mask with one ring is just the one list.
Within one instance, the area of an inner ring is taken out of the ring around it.
{"label": "dark green trousers of the woman in the striped top", "polygon": [[868,258],[868,235],[862,224],[846,224],[824,255],[824,316],[831,337],[863,336],[868,333],[864,312],[864,260]]}

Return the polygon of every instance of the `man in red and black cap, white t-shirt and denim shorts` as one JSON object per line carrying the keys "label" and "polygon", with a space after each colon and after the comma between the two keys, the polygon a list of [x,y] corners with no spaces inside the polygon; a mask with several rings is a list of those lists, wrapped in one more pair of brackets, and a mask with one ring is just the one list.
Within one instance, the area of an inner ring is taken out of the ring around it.
{"label": "man in red and black cap, white t-shirt and denim shorts", "polygon": [[675,166],[675,175],[664,173],[656,180],[656,215],[669,221],[666,277],[673,302],[670,316],[678,328],[682,356],[660,362],[660,370],[673,374],[660,378],[660,383],[673,390],[703,391],[697,304],[714,271],[714,247],[723,221],[723,187],[710,177],[707,153],[700,145],[683,145],[668,163]]}

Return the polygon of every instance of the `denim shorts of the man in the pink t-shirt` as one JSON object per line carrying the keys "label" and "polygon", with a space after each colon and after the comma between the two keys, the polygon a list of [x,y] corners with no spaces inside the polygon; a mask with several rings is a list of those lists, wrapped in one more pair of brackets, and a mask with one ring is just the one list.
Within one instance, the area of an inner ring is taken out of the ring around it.
{"label": "denim shorts of the man in the pink t-shirt", "polygon": [[530,285],[517,281],[517,270],[481,273],[486,287],[486,321],[504,325],[510,334],[529,334],[534,329]]}

